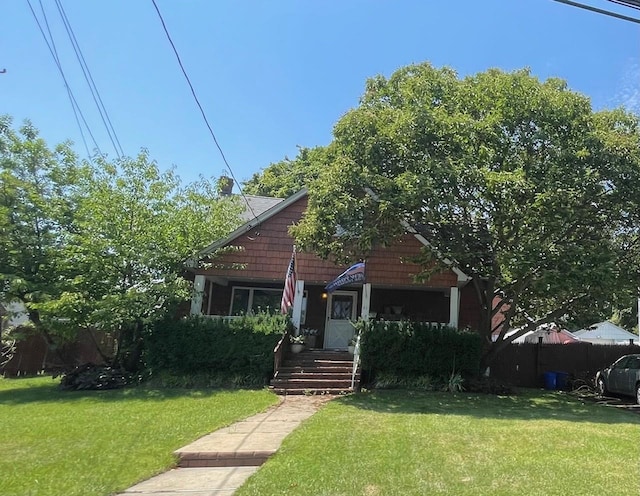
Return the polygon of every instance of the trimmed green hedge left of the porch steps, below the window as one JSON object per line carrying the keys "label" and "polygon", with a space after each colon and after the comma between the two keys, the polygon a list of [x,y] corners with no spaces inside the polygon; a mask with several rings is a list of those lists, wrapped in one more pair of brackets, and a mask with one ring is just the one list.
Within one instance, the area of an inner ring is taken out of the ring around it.
{"label": "trimmed green hedge left of the porch steps, below the window", "polygon": [[206,373],[265,383],[273,374],[273,348],[288,325],[286,316],[268,314],[160,322],[146,336],[145,366],[152,377]]}

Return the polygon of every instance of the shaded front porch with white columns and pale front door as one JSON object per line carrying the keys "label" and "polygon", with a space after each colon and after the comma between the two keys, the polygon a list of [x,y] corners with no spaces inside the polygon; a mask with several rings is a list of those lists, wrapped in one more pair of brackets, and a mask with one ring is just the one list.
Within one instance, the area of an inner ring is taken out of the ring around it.
{"label": "shaded front porch with white columns and pale front door", "polygon": [[[233,318],[259,311],[278,311],[281,281],[223,280],[196,275],[191,313]],[[309,347],[346,350],[354,335],[352,322],[413,320],[457,327],[461,294],[453,287],[385,287],[370,283],[327,293],[325,283],[298,280],[292,321],[296,333],[312,334]]]}

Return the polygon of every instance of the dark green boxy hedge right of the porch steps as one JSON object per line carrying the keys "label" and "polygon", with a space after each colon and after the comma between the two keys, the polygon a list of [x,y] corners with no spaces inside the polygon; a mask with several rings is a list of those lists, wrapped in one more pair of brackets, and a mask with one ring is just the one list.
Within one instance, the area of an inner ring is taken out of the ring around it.
{"label": "dark green boxy hedge right of the porch steps", "polygon": [[419,322],[369,322],[359,327],[362,366],[370,374],[478,374],[482,341],[475,332]]}

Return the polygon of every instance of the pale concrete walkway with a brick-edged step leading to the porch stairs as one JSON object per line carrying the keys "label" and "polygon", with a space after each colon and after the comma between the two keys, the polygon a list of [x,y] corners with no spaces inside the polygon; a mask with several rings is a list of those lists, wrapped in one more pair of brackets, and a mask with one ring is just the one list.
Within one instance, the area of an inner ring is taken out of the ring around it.
{"label": "pale concrete walkway with a brick-edged step leading to the porch stairs", "polygon": [[229,496],[273,455],[283,439],[330,396],[285,396],[264,413],[176,451],[179,467],[130,487],[121,496]]}

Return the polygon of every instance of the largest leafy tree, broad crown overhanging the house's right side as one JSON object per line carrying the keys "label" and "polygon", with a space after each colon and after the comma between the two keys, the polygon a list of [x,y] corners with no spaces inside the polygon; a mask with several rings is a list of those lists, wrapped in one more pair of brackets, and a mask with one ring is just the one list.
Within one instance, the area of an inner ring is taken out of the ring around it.
{"label": "largest leafy tree, broad crown overhanging the house's right side", "polygon": [[639,143],[637,116],[594,112],[561,80],[409,66],[369,80],[337,123],[293,233],[353,259],[411,225],[431,245],[423,276],[449,261],[472,277],[488,364],[539,324],[637,287],[620,236],[637,236]]}

